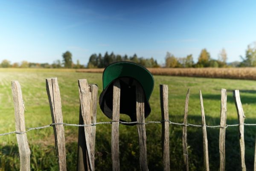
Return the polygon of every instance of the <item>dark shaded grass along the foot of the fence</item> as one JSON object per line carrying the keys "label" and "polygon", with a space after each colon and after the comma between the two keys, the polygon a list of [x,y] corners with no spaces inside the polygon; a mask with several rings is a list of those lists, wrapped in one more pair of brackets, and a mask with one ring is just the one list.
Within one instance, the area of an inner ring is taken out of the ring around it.
{"label": "dark shaded grass along the foot of the fence", "polygon": [[[172,116],[170,116],[172,117]],[[176,116],[175,122],[183,122],[183,116]],[[188,116],[189,123],[200,123],[201,116]],[[236,119],[227,119],[227,123],[237,122]],[[245,122],[256,123],[256,119],[246,118]],[[207,117],[207,124],[219,123],[217,117]],[[217,124],[218,125],[218,124]],[[183,170],[182,125],[170,125],[170,167],[172,171]],[[238,127],[226,129],[226,171],[239,171],[239,136]],[[245,161],[247,170],[253,170],[255,126],[245,126]],[[204,170],[202,128],[188,126],[189,170]],[[161,171],[161,124],[146,125],[147,160],[150,171]],[[210,170],[219,168],[219,128],[207,128]],[[39,144],[30,144],[31,170],[53,171],[58,170],[57,157],[54,146],[42,147]],[[77,143],[66,144],[67,170],[75,171],[77,163]],[[119,126],[119,158],[120,168],[124,171],[139,171],[139,145],[136,126]],[[19,170],[19,154],[16,144],[0,146],[0,167],[5,171]],[[96,128],[96,171],[109,171],[111,162],[111,125],[99,125]]]}

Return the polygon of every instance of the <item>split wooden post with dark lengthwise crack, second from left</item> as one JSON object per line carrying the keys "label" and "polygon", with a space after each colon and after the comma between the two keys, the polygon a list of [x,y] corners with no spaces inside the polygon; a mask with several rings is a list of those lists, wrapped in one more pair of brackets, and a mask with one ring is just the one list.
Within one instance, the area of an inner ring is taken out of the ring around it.
{"label": "split wooden post with dark lengthwise crack, second from left", "polygon": [[[52,115],[52,123],[55,136],[55,148],[56,154],[58,156],[59,171],[67,171],[64,125],[61,124],[63,123],[63,116],[61,111],[61,94],[58,87],[57,78],[46,79],[46,90]],[[55,123],[60,124],[54,125]]]}

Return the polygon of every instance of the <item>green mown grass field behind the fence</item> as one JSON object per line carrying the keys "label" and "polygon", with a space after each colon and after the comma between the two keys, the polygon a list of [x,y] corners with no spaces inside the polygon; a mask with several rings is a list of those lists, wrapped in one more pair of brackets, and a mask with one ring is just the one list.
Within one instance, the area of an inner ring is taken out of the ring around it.
{"label": "green mown grass field behind the fence", "polygon": [[[25,122],[27,128],[49,125],[52,122],[45,79],[58,78],[61,92],[62,113],[65,123],[78,124],[79,92],[78,79],[86,78],[88,83],[99,86],[102,91],[102,74],[75,72],[75,70],[33,70],[0,69],[0,133],[15,130],[14,108],[11,81],[21,84],[25,102]],[[220,91],[225,88],[227,97],[227,124],[238,123],[232,90],[239,89],[244,108],[245,123],[256,123],[256,81],[194,78],[178,76],[154,76],[155,86],[151,95],[151,114],[146,121],[160,121],[159,84],[169,85],[169,119],[183,122],[186,92],[190,89],[188,122],[201,124],[199,89],[204,99],[207,125],[219,125]],[[122,116],[121,118],[127,119]],[[97,122],[109,121],[98,107]],[[226,132],[226,170],[239,170],[238,128],[227,128]],[[256,127],[245,126],[246,164],[252,170],[254,159]],[[218,128],[207,128],[210,170],[218,170]],[[120,125],[120,167],[125,171],[139,170],[139,149],[136,126]],[[162,170],[161,125],[146,125],[148,167],[151,171]],[[78,128],[66,126],[67,170],[76,170]],[[52,128],[31,130],[27,133],[31,149],[31,168],[33,171],[58,170],[54,150]],[[15,134],[0,137],[0,171],[18,171],[19,154]],[[188,127],[189,167],[191,171],[203,170],[203,146],[201,128]],[[171,169],[183,169],[182,126],[170,126]],[[96,170],[111,170],[111,125],[96,127]]]}

